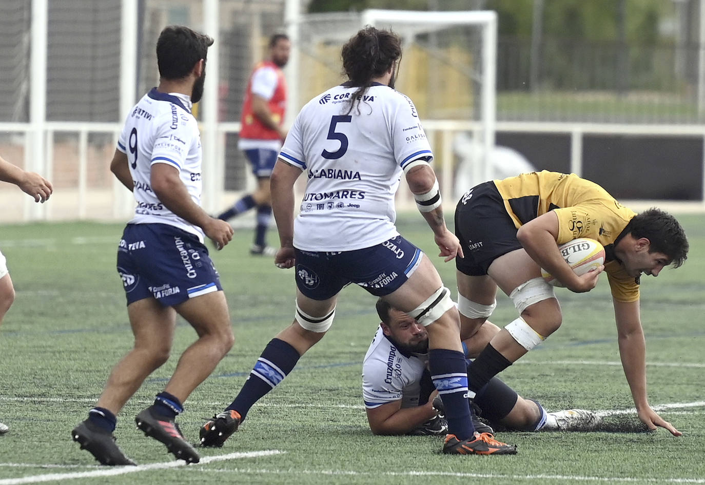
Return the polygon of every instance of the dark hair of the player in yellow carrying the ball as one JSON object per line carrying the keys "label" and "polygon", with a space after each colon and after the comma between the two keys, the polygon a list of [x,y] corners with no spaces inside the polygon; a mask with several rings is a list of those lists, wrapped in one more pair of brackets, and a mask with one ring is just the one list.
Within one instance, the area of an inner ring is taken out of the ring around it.
{"label": "dark hair of the player in yellow carrying the ball", "polygon": [[663,252],[671,259],[674,268],[682,265],[688,255],[688,240],[675,217],[656,207],[632,217],[625,233],[634,238],[646,238],[651,243],[649,252]]}

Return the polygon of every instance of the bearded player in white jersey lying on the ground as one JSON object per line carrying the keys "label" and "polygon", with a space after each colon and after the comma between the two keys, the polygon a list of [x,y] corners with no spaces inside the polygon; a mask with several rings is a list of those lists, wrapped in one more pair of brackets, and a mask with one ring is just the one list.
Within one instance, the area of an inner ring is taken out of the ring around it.
{"label": "bearded player in white jersey lying on the ground", "polygon": [[[429,336],[416,319],[377,300],[379,329],[362,364],[362,395],[374,434],[446,434],[439,400],[427,371]],[[486,324],[487,327],[494,327]],[[470,361],[468,361],[469,365]],[[476,412],[492,426],[518,431],[589,431],[601,418],[587,410],[546,412],[537,400],[518,395],[497,377],[477,393]],[[475,424],[475,429],[494,434]]]}

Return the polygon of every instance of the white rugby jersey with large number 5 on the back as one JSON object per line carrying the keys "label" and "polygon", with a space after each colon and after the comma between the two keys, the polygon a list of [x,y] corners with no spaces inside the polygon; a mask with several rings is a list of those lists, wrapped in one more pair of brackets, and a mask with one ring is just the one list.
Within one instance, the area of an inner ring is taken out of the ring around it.
{"label": "white rugby jersey with large number 5 on the back", "polygon": [[357,90],[343,84],[309,101],[279,157],[307,171],[294,246],[350,251],[398,235],[394,194],[403,168],[433,158],[411,99],[376,83],[346,114]]}

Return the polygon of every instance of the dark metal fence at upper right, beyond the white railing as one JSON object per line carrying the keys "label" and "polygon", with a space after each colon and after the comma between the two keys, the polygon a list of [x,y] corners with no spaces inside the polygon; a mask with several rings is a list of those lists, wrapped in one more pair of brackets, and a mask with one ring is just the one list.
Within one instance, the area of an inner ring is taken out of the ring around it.
{"label": "dark metal fence at upper right, beyond the white railing", "polygon": [[498,120],[705,121],[697,98],[698,45],[553,38],[544,39],[532,59],[529,44],[498,41]]}

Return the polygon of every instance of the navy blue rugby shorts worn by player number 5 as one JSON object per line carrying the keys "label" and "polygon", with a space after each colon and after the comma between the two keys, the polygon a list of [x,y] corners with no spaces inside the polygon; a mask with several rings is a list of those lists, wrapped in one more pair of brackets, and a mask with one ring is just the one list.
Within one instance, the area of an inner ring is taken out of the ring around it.
{"label": "navy blue rugby shorts worn by player number 5", "polygon": [[375,296],[402,286],[423,252],[400,235],[362,250],[312,252],[295,249],[296,286],[312,300],[328,300],[356,283]]}

